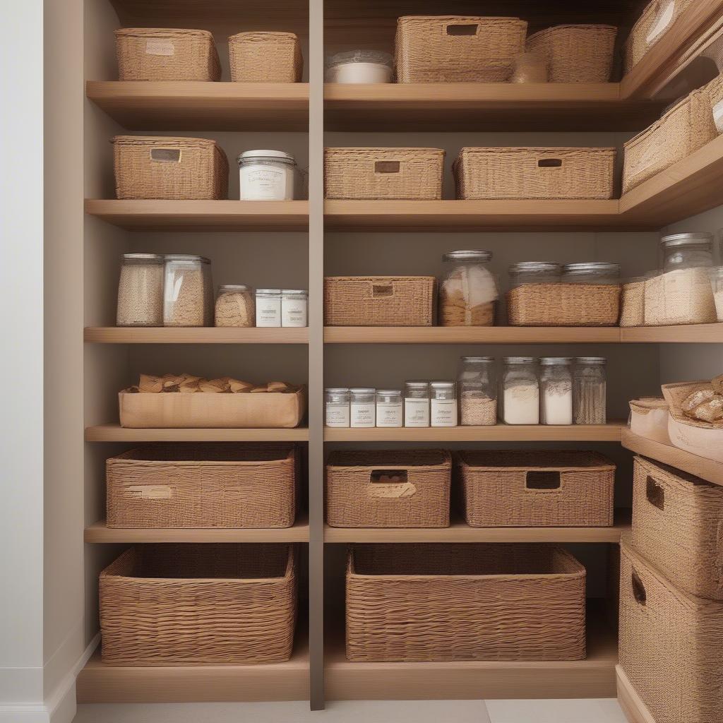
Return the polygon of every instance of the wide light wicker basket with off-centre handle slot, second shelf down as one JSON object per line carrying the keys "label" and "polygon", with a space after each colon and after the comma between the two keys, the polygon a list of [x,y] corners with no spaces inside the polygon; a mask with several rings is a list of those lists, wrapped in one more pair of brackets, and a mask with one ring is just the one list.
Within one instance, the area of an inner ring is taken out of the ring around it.
{"label": "wide light wicker basket with off-centre handle slot, second shelf down", "polygon": [[463,148],[461,199],[609,199],[615,148]]}

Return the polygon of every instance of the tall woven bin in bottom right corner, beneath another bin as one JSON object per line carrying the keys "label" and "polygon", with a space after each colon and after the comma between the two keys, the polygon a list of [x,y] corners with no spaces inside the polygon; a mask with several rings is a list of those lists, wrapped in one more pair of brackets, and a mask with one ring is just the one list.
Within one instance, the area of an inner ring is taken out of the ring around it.
{"label": "tall woven bin in bottom right corner, beneath another bin", "polygon": [[620,545],[620,665],[655,723],[723,723],[723,604]]}

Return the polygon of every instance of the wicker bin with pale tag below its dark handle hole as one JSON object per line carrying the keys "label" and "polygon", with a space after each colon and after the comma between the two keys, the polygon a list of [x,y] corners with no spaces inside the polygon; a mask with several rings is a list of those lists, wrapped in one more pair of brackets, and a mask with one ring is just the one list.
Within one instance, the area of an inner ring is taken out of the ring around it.
{"label": "wicker bin with pale tag below its dark handle hole", "polygon": [[448,527],[452,458],[442,450],[334,452],[326,466],[332,527]]}

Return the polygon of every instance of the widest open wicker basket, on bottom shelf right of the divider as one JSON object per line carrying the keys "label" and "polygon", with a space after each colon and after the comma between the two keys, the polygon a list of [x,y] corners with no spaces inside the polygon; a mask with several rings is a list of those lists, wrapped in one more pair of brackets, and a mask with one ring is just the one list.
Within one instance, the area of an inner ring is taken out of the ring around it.
{"label": "widest open wicker basket, on bottom shelf right of the divider", "polygon": [[555,545],[355,545],[346,656],[583,659],[585,568]]}

